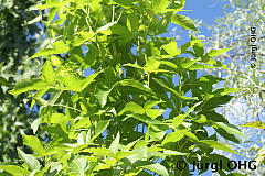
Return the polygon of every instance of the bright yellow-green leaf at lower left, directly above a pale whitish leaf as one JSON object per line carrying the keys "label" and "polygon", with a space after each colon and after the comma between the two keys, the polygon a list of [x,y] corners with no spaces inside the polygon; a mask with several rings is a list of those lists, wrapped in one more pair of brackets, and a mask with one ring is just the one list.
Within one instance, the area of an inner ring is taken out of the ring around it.
{"label": "bright yellow-green leaf at lower left, directly above a pale whitish leaf", "polygon": [[44,155],[45,150],[36,136],[22,134],[22,139],[23,139],[24,145],[29,145],[39,155],[41,155],[41,156]]}

